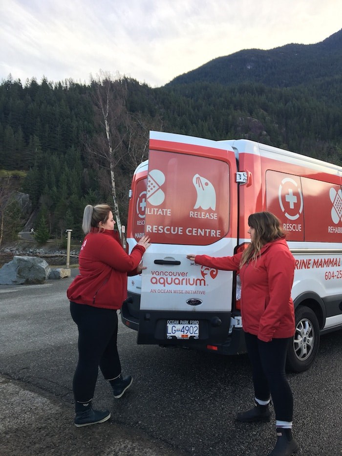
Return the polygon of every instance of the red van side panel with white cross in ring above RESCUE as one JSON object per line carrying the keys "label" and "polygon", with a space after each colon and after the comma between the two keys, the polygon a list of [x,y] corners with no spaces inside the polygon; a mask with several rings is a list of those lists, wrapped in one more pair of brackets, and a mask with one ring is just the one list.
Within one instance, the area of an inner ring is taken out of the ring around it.
{"label": "red van side panel with white cross in ring above RESCUE", "polygon": [[266,208],[281,220],[288,240],[304,240],[304,199],[299,176],[267,171]]}

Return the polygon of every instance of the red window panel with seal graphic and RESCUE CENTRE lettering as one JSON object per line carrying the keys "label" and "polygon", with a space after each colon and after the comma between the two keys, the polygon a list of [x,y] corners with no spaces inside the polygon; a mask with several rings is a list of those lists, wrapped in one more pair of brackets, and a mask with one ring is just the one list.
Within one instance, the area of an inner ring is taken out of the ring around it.
{"label": "red window panel with seal graphic and RESCUE CENTRE lettering", "polygon": [[150,151],[145,234],[152,242],[207,245],[223,238],[229,199],[227,163]]}

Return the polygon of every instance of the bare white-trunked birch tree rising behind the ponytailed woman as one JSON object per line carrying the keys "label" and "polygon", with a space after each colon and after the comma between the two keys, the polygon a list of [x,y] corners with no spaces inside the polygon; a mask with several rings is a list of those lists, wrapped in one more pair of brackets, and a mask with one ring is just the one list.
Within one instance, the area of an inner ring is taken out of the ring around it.
{"label": "bare white-trunked birch tree rising behind the ponytailed woman", "polygon": [[130,178],[135,168],[148,158],[149,130],[159,122],[128,111],[126,78],[113,81],[110,74],[101,72],[97,80],[92,82],[92,88],[96,120],[100,128],[91,144],[87,144],[87,149],[95,159],[96,166],[106,171],[105,175],[102,174],[104,186],[106,174],[109,175],[114,217],[125,247],[119,201],[128,203],[126,198]]}

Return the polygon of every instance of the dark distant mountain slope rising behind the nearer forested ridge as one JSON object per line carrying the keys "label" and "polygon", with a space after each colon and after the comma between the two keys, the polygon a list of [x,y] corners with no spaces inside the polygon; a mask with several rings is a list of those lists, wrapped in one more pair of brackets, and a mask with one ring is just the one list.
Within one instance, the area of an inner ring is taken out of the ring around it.
{"label": "dark distant mountain slope rising behind the nearer forested ridge", "polygon": [[177,76],[164,87],[198,82],[294,87],[341,74],[342,29],[321,43],[286,44],[269,50],[245,49],[218,57]]}

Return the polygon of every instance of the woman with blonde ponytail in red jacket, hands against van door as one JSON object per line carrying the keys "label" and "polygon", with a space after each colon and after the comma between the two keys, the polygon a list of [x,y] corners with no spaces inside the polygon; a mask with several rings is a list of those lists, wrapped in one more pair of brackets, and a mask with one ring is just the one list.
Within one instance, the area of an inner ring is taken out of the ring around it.
{"label": "woman with blonde ponytail in red jacket, hands against van door", "polygon": [[140,264],[150,238],[144,236],[130,255],[123,249],[107,204],[87,205],[82,228],[86,236],[79,256],[80,275],[67,289],[72,319],[78,326],[79,358],[73,378],[75,425],[102,423],[109,411],[93,410],[98,368],[121,397],[132,384],[130,375],[122,377],[116,346],[117,309],[127,298],[127,275],[140,274]]}

